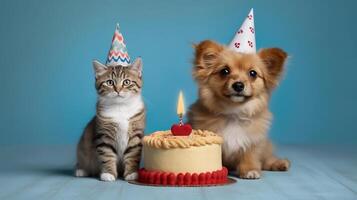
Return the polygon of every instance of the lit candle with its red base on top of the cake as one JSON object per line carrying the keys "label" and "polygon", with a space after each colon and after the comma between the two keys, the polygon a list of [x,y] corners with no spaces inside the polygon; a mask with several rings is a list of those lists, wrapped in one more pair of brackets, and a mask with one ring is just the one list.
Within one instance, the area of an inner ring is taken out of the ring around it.
{"label": "lit candle with its red base on top of the cake", "polygon": [[183,93],[180,91],[177,101],[177,115],[179,117],[179,124],[171,126],[171,133],[175,136],[188,136],[192,132],[192,127],[189,124],[183,123],[183,116],[185,114],[185,103],[183,101]]}

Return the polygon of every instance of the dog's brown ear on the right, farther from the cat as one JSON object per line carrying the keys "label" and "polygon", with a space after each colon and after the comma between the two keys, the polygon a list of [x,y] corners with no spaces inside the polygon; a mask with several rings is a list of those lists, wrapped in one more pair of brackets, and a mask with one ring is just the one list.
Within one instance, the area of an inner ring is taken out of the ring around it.
{"label": "dog's brown ear on the right, farther from the cat", "polygon": [[280,48],[261,49],[258,53],[266,67],[265,81],[269,89],[277,86],[284,71],[284,64],[288,54]]}

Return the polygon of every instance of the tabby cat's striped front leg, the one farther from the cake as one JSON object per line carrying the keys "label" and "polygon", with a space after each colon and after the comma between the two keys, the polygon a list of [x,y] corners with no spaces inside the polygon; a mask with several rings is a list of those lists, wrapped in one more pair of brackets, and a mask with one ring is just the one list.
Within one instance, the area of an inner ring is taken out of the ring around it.
{"label": "tabby cat's striped front leg, the one farther from the cake", "polygon": [[114,145],[110,143],[99,143],[96,145],[98,162],[100,165],[100,180],[115,181],[117,172],[117,153]]}

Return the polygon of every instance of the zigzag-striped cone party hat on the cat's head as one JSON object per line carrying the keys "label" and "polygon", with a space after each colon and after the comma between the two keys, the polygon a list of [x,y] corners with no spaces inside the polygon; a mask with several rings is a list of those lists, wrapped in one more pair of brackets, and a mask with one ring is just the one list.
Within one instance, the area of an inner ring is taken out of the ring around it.
{"label": "zigzag-striped cone party hat on the cat's head", "polygon": [[130,57],[126,45],[124,42],[124,37],[119,31],[119,24],[115,28],[115,32],[112,39],[112,46],[110,47],[108,58],[106,61],[107,66],[122,65],[127,66],[130,64]]}

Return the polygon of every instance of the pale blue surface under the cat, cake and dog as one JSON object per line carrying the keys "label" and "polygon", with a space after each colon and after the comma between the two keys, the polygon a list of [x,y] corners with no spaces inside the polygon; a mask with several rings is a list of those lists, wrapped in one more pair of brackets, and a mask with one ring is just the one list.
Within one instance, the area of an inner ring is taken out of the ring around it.
{"label": "pale blue surface under the cat, cake and dog", "polygon": [[0,199],[357,199],[357,147],[279,146],[288,172],[222,187],[172,188],[73,177],[75,146],[0,147]]}

